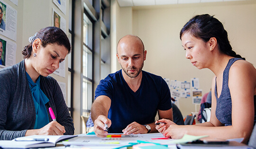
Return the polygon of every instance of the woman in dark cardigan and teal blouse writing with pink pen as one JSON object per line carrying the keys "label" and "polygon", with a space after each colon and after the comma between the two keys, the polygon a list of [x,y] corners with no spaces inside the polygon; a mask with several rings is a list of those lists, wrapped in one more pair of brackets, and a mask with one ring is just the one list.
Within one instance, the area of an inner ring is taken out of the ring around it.
{"label": "woman in dark cardigan and teal blouse writing with pink pen", "polygon": [[0,70],[0,140],[74,133],[61,88],[48,76],[70,52],[70,42],[57,27],[41,29],[29,42],[22,51],[24,60]]}

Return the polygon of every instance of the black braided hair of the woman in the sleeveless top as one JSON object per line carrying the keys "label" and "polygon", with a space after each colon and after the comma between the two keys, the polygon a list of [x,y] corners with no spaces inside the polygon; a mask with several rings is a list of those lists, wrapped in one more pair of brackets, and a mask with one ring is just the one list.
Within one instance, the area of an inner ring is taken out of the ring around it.
{"label": "black braided hair of the woman in the sleeveless top", "polygon": [[185,32],[190,32],[192,36],[204,42],[209,41],[211,37],[215,37],[221,53],[235,58],[242,58],[232,50],[227,31],[224,29],[222,23],[214,16],[203,14],[193,17],[183,26],[180,32],[180,39]]}

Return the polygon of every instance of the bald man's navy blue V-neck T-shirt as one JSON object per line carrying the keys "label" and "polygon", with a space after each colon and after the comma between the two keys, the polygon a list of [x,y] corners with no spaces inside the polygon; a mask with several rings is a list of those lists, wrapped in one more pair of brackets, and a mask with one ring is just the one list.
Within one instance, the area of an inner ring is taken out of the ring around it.
{"label": "bald man's navy blue V-neck T-shirt", "polygon": [[110,133],[122,133],[132,122],[149,124],[155,121],[157,109],[172,108],[169,87],[161,76],[142,71],[140,87],[132,91],[123,78],[122,70],[101,80],[95,91],[95,99],[105,95],[111,99],[108,118]]}

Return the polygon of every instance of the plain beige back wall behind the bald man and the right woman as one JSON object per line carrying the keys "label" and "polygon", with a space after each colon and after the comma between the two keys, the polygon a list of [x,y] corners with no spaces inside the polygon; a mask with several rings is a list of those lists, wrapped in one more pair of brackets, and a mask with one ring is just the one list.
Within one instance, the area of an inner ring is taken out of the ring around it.
{"label": "plain beige back wall behind the bald man and the right woman", "polygon": [[[190,81],[197,77],[203,94],[208,92],[213,73],[192,66],[185,58],[179,39],[183,25],[194,15],[205,13],[215,15],[224,24],[233,49],[256,66],[253,46],[256,41],[256,0],[135,7],[132,12],[128,9],[130,7],[118,8],[117,13],[122,14],[122,18],[117,20],[116,34],[121,37],[127,34],[128,28],[128,33],[136,34],[144,41],[147,50],[145,71],[178,81]],[[128,22],[131,13],[132,24]],[[180,99],[179,105],[183,116],[195,111],[192,98]]]}

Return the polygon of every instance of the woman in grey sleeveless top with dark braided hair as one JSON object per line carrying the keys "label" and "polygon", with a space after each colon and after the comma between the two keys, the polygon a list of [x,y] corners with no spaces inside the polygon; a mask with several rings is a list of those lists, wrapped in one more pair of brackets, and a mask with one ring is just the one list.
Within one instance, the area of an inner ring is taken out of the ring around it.
{"label": "woman in grey sleeveless top with dark braided hair", "polygon": [[166,137],[184,134],[211,138],[244,138],[247,143],[256,122],[256,69],[232,50],[228,33],[208,14],[193,17],[180,32],[186,58],[198,69],[208,68],[212,79],[210,122],[180,126],[169,120],[156,129]]}

